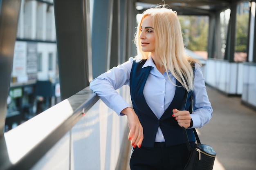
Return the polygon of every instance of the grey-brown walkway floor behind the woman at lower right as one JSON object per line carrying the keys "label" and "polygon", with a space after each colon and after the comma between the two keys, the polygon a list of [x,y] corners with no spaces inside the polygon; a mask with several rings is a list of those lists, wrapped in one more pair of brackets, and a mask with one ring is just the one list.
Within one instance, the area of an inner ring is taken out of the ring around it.
{"label": "grey-brown walkway floor behind the woman at lower right", "polygon": [[256,110],[242,105],[241,97],[228,97],[209,86],[207,93],[213,117],[198,134],[202,144],[217,152],[213,170],[256,170]]}

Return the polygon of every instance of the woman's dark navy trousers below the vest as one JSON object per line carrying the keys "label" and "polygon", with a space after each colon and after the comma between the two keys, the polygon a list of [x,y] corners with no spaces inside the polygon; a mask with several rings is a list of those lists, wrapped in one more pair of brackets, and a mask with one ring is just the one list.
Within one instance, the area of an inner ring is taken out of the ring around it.
{"label": "woman's dark navy trousers below the vest", "polygon": [[[195,142],[191,142],[191,147]],[[165,146],[155,143],[154,148],[133,148],[130,158],[131,170],[183,170],[189,150],[186,144]]]}

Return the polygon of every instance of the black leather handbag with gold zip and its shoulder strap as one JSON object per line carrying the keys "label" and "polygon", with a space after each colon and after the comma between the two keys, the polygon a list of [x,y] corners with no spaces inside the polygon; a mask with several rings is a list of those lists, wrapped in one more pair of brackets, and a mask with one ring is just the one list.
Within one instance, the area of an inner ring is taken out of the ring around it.
{"label": "black leather handbag with gold zip and its shoulder strap", "polygon": [[[188,94],[186,96],[187,101]],[[192,105],[192,102],[191,102]],[[186,103],[183,105],[184,108],[186,108]],[[190,113],[192,112],[192,108],[190,107]],[[186,146],[189,150],[188,155],[188,161],[186,163],[186,166],[184,167],[184,170],[212,170],[213,169],[213,163],[215,161],[216,152],[215,150],[205,144],[201,144],[200,139],[198,137],[198,134],[193,128],[195,139],[197,141],[197,144],[191,148],[189,144],[189,137],[186,132],[186,128],[182,127],[182,130],[184,132],[184,136],[186,139]]]}

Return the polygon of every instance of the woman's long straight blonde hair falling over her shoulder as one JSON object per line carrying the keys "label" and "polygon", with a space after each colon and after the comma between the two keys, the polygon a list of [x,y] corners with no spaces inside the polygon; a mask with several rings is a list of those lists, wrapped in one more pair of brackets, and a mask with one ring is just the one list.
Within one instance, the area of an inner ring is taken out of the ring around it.
{"label": "woman's long straight blonde hair falling over her shoulder", "polygon": [[164,65],[166,72],[168,70],[171,71],[172,75],[182,84],[186,91],[192,91],[194,76],[191,62],[195,62],[195,60],[188,57],[184,52],[182,30],[176,11],[161,5],[147,9],[142,13],[134,40],[137,46],[136,58],[143,60],[150,56],[150,52],[141,50],[139,38],[141,22],[146,16],[152,16],[153,18],[155,55],[157,59]]}

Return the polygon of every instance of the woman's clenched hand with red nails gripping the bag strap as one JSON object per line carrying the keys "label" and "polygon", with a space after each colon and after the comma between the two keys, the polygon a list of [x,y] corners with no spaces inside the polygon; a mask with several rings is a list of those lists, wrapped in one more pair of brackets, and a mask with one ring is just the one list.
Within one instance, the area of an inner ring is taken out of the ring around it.
{"label": "woman's clenched hand with red nails gripping the bag strap", "polygon": [[191,117],[189,111],[187,110],[177,110],[173,109],[173,117],[177,120],[180,127],[188,128],[190,126]]}

